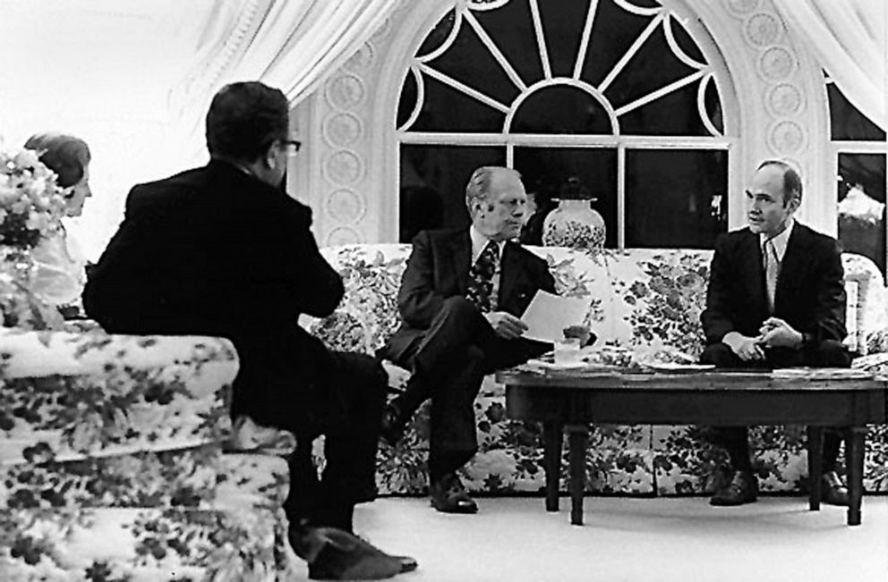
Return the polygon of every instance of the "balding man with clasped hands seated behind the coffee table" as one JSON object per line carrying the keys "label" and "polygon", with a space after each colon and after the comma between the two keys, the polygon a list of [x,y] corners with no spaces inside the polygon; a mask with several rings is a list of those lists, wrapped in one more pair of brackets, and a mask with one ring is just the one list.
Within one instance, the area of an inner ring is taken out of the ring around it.
{"label": "balding man with clasped hands seated behind the coffee table", "polygon": [[[746,190],[748,226],[715,244],[701,361],[716,367],[849,367],[845,288],[835,239],[799,224],[802,182],[789,164],[759,165]],[[749,459],[747,426],[713,427],[713,441],[730,456],[731,476],[710,503],[755,502],[758,484]],[[841,437],[824,434],[823,501],[848,505],[836,474]]]}

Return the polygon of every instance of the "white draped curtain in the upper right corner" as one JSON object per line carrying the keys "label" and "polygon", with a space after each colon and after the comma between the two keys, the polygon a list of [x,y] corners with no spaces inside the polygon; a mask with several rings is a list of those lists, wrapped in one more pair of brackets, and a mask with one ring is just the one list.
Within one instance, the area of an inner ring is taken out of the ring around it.
{"label": "white draped curtain in the upper right corner", "polygon": [[860,113],[883,130],[888,48],[885,0],[773,0]]}

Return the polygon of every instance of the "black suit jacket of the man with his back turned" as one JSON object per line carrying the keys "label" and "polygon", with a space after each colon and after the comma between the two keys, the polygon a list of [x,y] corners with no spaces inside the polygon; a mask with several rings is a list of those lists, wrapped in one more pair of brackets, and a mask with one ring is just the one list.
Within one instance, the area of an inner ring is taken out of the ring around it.
{"label": "black suit jacket of the man with his back turned", "polygon": [[309,392],[327,350],[296,320],[329,315],[344,292],[311,224],[311,209],[222,161],[135,186],[84,308],[112,333],[231,339],[235,409],[249,394],[244,411],[272,422],[281,399],[321,397]]}

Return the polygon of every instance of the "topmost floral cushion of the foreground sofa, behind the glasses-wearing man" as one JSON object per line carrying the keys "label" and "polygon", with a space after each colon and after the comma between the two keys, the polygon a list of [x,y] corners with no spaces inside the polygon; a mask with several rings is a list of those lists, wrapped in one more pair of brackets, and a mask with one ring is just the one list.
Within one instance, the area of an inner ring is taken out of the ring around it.
{"label": "topmost floral cushion of the foreground sofa, behind the glasses-wearing man", "polygon": [[0,465],[219,443],[225,340],[0,331]]}

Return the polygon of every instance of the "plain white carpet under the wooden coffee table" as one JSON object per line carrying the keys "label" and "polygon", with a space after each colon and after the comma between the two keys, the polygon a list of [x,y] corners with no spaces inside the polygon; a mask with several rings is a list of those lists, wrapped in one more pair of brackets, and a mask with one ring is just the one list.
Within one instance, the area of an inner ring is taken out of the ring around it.
{"label": "plain white carpet under the wooden coffee table", "polygon": [[403,582],[885,582],[888,498],[866,497],[863,524],[845,510],[807,510],[807,498],[765,497],[713,508],[704,497],[585,499],[585,525],[569,500],[481,498],[474,516],[444,515],[424,498],[358,507],[355,529],[381,549],[414,556]]}

